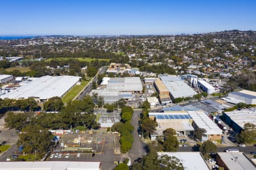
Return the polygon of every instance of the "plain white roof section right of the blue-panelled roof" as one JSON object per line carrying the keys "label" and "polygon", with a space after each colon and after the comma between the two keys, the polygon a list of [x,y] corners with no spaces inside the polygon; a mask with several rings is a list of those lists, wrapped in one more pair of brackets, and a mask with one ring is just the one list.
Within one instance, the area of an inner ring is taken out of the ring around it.
{"label": "plain white roof section right of the blue-panelled roof", "polygon": [[188,111],[188,114],[199,128],[207,130],[205,134],[222,134],[222,130],[203,111]]}

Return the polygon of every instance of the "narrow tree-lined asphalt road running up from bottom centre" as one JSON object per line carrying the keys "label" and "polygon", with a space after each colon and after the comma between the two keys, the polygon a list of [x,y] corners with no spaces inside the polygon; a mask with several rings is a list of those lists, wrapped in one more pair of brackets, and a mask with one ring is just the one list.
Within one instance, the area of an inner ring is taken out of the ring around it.
{"label": "narrow tree-lined asphalt road running up from bottom centre", "polygon": [[134,111],[133,118],[131,119],[131,125],[134,126],[134,131],[133,131],[134,142],[133,142],[133,147],[128,152],[128,155],[131,158],[132,163],[134,162],[134,160],[138,158],[142,158],[143,155],[146,153],[146,150],[144,149],[146,144],[141,141],[141,137],[139,137],[139,134],[137,131],[139,127],[138,118],[140,113],[141,111]]}

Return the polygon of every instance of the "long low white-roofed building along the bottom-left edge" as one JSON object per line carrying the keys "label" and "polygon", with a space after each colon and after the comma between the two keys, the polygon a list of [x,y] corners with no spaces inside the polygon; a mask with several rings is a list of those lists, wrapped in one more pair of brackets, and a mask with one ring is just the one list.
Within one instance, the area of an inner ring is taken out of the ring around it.
{"label": "long low white-roofed building along the bottom-left edge", "polygon": [[101,162],[1,162],[0,169],[5,170],[101,170]]}

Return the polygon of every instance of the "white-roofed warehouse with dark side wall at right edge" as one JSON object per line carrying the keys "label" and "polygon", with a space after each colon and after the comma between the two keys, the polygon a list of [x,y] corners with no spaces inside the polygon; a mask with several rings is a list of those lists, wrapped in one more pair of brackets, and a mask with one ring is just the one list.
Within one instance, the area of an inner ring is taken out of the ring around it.
{"label": "white-roofed warehouse with dark side wall at right edge", "polygon": [[256,108],[224,112],[223,120],[232,127],[234,131],[240,133],[246,123],[256,125]]}

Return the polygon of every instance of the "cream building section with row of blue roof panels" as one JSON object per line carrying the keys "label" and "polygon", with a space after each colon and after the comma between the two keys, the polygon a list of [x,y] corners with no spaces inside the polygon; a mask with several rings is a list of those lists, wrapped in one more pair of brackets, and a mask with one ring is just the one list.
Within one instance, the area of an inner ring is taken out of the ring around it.
{"label": "cream building section with row of blue roof panels", "polygon": [[178,136],[184,136],[193,131],[191,125],[192,118],[187,112],[175,113],[148,113],[151,120],[158,123],[156,130],[151,134],[151,140],[155,141],[158,136],[163,135],[163,131],[172,128]]}

